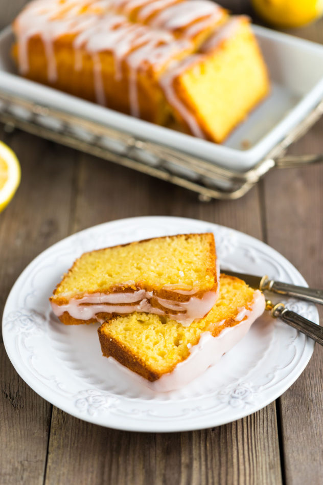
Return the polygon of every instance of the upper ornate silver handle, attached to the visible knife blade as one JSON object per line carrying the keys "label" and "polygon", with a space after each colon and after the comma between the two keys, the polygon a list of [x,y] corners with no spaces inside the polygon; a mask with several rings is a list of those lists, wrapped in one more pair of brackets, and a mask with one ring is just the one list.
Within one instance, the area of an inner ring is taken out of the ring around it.
{"label": "upper ornate silver handle, attached to the visible knife blade", "polygon": [[314,290],[313,288],[304,288],[304,286],[281,283],[280,281],[270,280],[268,276],[264,276],[261,280],[260,290],[267,290],[273,293],[279,293],[280,295],[294,296],[295,298],[323,305],[323,290]]}

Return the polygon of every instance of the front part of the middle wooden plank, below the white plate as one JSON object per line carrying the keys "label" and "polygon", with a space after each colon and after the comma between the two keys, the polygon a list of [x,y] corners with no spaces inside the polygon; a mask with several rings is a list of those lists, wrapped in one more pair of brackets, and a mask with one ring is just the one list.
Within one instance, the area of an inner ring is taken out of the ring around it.
{"label": "front part of the middle wooden plank, below the white plate", "polygon": [[274,416],[273,404],[227,426],[153,434],[90,425],[54,409],[46,483],[86,477],[86,483],[118,485],[276,485],[281,477]]}

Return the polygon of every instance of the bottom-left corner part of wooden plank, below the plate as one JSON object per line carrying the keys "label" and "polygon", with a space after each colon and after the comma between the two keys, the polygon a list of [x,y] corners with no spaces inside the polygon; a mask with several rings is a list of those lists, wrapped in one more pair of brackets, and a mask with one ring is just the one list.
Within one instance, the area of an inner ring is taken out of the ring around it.
{"label": "bottom-left corner part of wooden plank, below the plate", "polygon": [[0,344],[0,482],[42,483],[51,405],[18,376]]}

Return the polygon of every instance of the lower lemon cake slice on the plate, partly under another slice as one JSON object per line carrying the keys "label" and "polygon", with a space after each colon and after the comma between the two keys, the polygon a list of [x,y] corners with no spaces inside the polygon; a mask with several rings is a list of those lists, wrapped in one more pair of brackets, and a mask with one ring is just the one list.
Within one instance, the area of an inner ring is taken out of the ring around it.
{"label": "lower lemon cake slice on the plate, partly under another slice", "polygon": [[142,376],[156,391],[177,389],[217,363],[264,309],[259,290],[221,274],[219,298],[201,320],[183,327],[159,315],[114,317],[98,330],[102,353]]}

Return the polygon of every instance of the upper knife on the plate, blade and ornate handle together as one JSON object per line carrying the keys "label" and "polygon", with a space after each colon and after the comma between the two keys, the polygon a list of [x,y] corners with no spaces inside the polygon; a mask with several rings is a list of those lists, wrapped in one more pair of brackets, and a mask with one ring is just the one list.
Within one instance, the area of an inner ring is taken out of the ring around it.
{"label": "upper knife on the plate, blade and ornate handle together", "polygon": [[251,288],[261,291],[270,291],[278,293],[279,295],[292,296],[301,300],[312,301],[323,305],[323,290],[314,288],[306,288],[306,286],[296,286],[291,283],[283,283],[275,281],[265,276],[250,275],[247,273],[238,273],[237,271],[229,271],[221,268],[221,272],[228,276],[236,276],[245,281]]}

